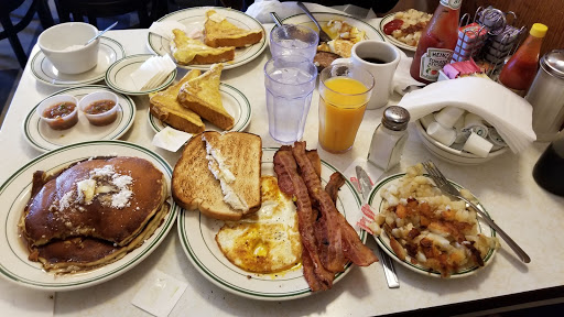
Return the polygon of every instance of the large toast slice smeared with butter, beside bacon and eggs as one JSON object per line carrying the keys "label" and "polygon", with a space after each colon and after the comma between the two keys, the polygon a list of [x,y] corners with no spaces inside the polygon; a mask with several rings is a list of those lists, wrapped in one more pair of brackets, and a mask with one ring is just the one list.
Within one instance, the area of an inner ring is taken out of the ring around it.
{"label": "large toast slice smeared with butter, beside bacon and eggs", "polygon": [[[213,141],[207,143],[206,140]],[[220,182],[209,170],[207,144],[218,146],[220,157],[236,178],[230,187],[236,195],[246,199],[248,210],[234,209],[225,201]],[[253,157],[253,161],[243,155]],[[199,210],[221,220],[239,220],[243,215],[260,209],[261,156],[262,141],[258,135],[245,132],[219,134],[215,131],[196,134],[174,166],[172,196],[186,210]]]}

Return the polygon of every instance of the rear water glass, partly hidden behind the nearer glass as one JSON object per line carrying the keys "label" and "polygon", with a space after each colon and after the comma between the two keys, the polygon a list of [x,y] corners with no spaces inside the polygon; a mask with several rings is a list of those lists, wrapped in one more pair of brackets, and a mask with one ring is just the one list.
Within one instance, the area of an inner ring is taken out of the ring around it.
{"label": "rear water glass, partly hidden behind the nearer glass", "polygon": [[301,55],[313,61],[317,53],[319,35],[304,25],[283,24],[270,32],[270,53],[272,57],[281,55]]}

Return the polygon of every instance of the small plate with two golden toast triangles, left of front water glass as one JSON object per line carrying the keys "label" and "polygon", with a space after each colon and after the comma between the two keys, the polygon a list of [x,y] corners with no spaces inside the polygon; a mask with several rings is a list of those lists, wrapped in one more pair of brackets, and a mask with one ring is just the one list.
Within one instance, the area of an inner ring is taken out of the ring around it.
{"label": "small plate with two golden toast triangles, left of front water glass", "polygon": [[252,110],[237,88],[220,83],[223,64],[209,70],[189,70],[178,83],[149,95],[149,124],[155,132],[166,127],[187,133],[205,130],[242,131]]}

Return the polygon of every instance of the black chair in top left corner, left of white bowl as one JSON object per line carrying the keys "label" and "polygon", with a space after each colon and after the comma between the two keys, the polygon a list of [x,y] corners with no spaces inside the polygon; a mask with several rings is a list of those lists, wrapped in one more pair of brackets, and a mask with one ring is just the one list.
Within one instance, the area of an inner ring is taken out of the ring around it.
{"label": "black chair in top left corner, left of white bowl", "polygon": [[25,64],[28,64],[28,54],[25,54],[22,47],[18,33],[31,23],[35,12],[37,12],[43,29],[47,29],[54,24],[51,11],[44,0],[33,0],[25,15],[13,24],[10,13],[20,8],[24,1],[25,0],[0,0],[0,24],[4,29],[0,32],[0,40],[8,39],[10,41],[10,45],[22,68],[25,68]]}

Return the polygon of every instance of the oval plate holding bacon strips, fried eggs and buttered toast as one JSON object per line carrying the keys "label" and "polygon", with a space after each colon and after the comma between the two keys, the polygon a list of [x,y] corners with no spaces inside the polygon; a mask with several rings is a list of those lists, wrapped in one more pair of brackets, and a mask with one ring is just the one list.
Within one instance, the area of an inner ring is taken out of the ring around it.
{"label": "oval plate holding bacon strips, fried eggs and buttered toast", "polygon": [[232,294],[286,300],[328,292],[354,265],[377,261],[366,232],[349,225],[361,205],[350,182],[305,142],[261,146],[246,132],[186,144],[171,187],[194,267]]}

